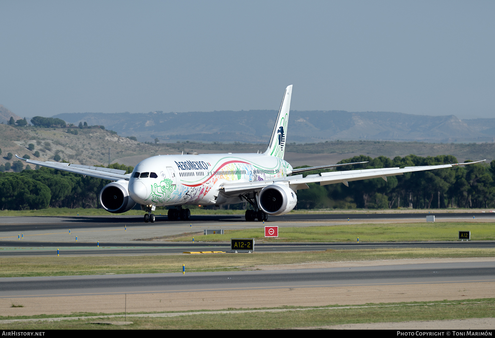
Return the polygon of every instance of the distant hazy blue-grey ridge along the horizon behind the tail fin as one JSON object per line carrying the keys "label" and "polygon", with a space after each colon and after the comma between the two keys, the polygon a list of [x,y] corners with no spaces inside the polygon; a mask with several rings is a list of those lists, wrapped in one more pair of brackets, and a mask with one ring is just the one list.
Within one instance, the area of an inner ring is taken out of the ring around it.
{"label": "distant hazy blue-grey ridge along the horizon behind the tail fin", "polygon": [[[140,141],[267,142],[275,110],[188,113],[64,113],[67,123],[103,125]],[[427,116],[393,112],[291,111],[290,142],[388,140],[424,142],[494,142],[495,119],[460,120],[454,115]]]}

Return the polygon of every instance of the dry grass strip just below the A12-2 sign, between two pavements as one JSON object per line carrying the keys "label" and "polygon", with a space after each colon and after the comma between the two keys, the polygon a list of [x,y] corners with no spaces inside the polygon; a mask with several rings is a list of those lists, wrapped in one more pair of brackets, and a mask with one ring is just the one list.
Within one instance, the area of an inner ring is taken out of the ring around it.
{"label": "dry grass strip just below the A12-2 sign, between two pavements", "polygon": [[[104,254],[104,248],[94,248]],[[0,277],[75,276],[98,274],[173,273],[252,270],[260,265],[324,263],[414,258],[495,257],[495,249],[346,249],[292,253],[211,253],[149,256],[2,257]],[[67,254],[70,254],[68,252]]]}

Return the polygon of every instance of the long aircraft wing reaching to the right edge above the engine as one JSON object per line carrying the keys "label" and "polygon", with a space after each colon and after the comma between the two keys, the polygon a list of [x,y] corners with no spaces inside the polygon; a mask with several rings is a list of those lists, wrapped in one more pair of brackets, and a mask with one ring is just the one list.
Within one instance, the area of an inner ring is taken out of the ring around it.
{"label": "long aircraft wing reaching to the right edge above the engine", "polygon": [[246,183],[225,183],[220,188],[223,192],[230,196],[235,196],[236,194],[243,194],[249,191],[261,190],[265,186],[274,183],[289,184],[293,190],[307,189],[307,183],[320,183],[320,185],[327,185],[333,183],[344,183],[348,186],[350,181],[358,181],[362,179],[378,178],[381,177],[387,180],[388,176],[402,175],[404,172],[413,171],[423,171],[441,168],[451,168],[454,166],[465,166],[475,163],[484,162],[469,162],[469,163],[455,163],[447,165],[438,166],[418,166],[418,167],[404,167],[404,168],[380,168],[380,169],[362,169],[362,170],[348,170],[348,171],[330,171],[322,172],[319,174],[307,175],[302,177],[302,175],[287,176],[283,178],[277,178],[267,181],[257,181],[257,182],[246,182]]}

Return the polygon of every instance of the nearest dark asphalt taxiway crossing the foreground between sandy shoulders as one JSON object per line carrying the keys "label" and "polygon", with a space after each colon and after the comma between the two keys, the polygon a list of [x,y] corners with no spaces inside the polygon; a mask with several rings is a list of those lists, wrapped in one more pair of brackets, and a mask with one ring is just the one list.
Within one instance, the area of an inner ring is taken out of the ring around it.
{"label": "nearest dark asphalt taxiway crossing the foreground between sandy shoulders", "polygon": [[0,297],[115,295],[495,281],[495,261],[278,271],[0,278]]}

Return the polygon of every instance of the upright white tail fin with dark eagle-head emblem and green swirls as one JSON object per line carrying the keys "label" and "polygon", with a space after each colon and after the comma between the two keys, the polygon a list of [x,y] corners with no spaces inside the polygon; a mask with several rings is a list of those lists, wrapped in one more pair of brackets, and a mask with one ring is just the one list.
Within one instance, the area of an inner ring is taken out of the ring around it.
{"label": "upright white tail fin with dark eagle-head emblem and green swirls", "polygon": [[285,141],[287,137],[287,124],[289,122],[289,110],[291,108],[292,84],[285,88],[284,97],[280,104],[279,114],[275,127],[273,127],[272,138],[265,155],[275,156],[283,159],[285,153]]}

